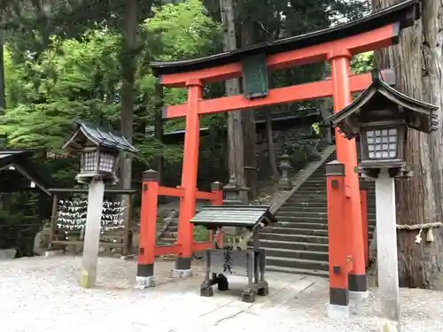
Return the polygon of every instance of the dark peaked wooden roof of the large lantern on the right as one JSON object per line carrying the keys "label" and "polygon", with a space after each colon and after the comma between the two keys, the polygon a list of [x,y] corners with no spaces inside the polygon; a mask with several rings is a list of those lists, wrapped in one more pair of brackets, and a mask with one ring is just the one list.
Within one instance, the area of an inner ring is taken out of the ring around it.
{"label": "dark peaked wooden roof of the large lantern on the right", "polygon": [[359,134],[359,128],[403,122],[406,126],[430,134],[437,130],[439,109],[433,104],[408,97],[383,81],[378,70],[372,72],[372,83],[354,101],[328,120],[333,127],[339,127],[346,138]]}

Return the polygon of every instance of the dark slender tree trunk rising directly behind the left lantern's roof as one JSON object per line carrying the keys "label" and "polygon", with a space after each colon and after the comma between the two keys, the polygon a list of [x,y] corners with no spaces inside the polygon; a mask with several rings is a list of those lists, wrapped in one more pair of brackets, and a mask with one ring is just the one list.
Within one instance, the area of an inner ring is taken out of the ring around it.
{"label": "dark slender tree trunk rising directly behind the left lantern's roof", "polygon": [[[134,124],[137,7],[137,0],[126,0],[123,19],[122,54],[120,58],[123,79],[121,83],[121,134],[130,143],[132,143]],[[120,178],[123,189],[130,189],[132,187],[132,158],[129,156],[121,160]]]}

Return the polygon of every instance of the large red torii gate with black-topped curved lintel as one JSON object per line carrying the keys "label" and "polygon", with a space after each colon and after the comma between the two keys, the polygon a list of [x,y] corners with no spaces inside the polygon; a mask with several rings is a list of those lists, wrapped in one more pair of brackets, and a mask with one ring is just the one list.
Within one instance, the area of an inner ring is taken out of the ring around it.
{"label": "large red torii gate with black-topped curved lintel", "polygon": [[[351,103],[352,92],[368,88],[371,82],[370,73],[351,75],[350,59],[355,54],[397,43],[400,30],[411,26],[414,20],[418,19],[419,6],[419,0],[408,0],[383,11],[374,12],[363,19],[306,35],[253,45],[247,49],[206,58],[152,63],[160,84],[188,89],[187,103],[167,106],[163,112],[165,119],[186,117],[181,185],[183,197],[180,201],[177,238],[182,251],[175,262],[177,270],[190,269],[193,235],[189,220],[194,216],[196,206],[199,117],[215,112],[245,110],[321,97],[333,97],[334,112],[340,111]],[[202,99],[202,89],[205,84],[241,77],[242,61],[257,55],[263,56],[268,71],[329,61],[330,80],[269,89],[260,98],[246,98],[241,95]],[[329,233],[330,304],[347,305],[348,290],[356,296],[364,296],[367,294],[367,282],[355,142],[348,141],[336,132],[336,145],[338,160],[346,166],[346,203],[341,219],[337,218],[337,213],[335,215],[329,213],[328,218],[329,223],[339,223],[350,231],[346,231],[347,238],[344,232]],[[333,202],[329,202],[329,205],[331,204]],[[337,219],[331,220],[332,218]],[[347,259],[335,260],[334,257],[337,255],[334,253],[338,252],[346,253]],[[343,261],[346,260],[349,263],[343,266]]]}

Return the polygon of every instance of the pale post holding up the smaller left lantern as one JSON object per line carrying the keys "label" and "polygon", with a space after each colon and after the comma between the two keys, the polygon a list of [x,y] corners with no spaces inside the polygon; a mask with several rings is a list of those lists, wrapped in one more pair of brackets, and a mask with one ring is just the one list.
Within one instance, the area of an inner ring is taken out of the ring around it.
{"label": "pale post holding up the smaller left lantern", "polygon": [[89,183],[88,210],[86,212],[82,274],[80,279],[80,286],[86,289],[94,287],[97,282],[98,243],[100,242],[104,193],[105,183],[101,178],[94,178]]}

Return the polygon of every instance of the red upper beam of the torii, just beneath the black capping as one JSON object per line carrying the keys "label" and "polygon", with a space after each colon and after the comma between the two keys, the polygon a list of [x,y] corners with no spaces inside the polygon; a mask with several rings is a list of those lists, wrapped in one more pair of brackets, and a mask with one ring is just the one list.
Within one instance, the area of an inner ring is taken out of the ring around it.
{"label": "red upper beam of the torii, just beneath the black capping", "polygon": [[[399,33],[398,24],[390,24],[360,35],[339,39],[338,41],[326,42],[299,50],[290,50],[269,55],[267,58],[267,66],[269,70],[279,70],[321,62],[326,60],[331,50],[345,49],[354,55],[369,50],[377,50],[394,44]],[[186,81],[189,80],[200,80],[207,84],[214,81],[229,80],[240,77],[241,75],[241,64],[234,63],[192,72],[164,74],[161,75],[160,82],[167,87],[183,88],[185,87]]]}

